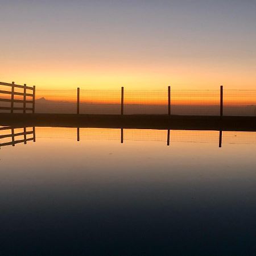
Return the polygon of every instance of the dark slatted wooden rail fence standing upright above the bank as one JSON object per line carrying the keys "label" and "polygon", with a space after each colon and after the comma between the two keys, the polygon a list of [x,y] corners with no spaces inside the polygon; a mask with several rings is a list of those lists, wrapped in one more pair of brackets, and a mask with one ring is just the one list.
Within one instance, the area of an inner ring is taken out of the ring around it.
{"label": "dark slatted wooden rail fence standing upright above the bank", "polygon": [[[35,86],[30,87],[26,84],[17,85],[12,82],[11,84],[7,82],[0,82],[0,85],[9,86],[11,90],[0,90],[0,94],[4,96],[11,96],[11,98],[0,97],[0,101],[2,102],[10,102],[10,106],[0,106],[0,110],[10,110],[11,113],[14,113],[14,110],[23,110],[23,113],[26,113],[27,110],[35,113]],[[15,92],[15,88],[23,89],[23,92]],[[27,90],[29,93],[27,93]],[[30,93],[30,91],[32,91]],[[22,100],[16,100],[15,96],[22,96]],[[30,97],[30,100],[27,100],[27,97]],[[23,104],[22,107],[15,107],[14,104],[19,103]],[[27,104],[32,104],[32,108],[27,108]]]}

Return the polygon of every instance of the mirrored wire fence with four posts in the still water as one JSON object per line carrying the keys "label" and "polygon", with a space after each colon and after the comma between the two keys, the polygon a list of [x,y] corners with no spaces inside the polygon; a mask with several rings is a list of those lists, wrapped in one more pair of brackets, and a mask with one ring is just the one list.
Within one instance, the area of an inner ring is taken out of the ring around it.
{"label": "mirrored wire fence with four posts in the still water", "polygon": [[256,144],[256,132],[38,127],[38,138]]}

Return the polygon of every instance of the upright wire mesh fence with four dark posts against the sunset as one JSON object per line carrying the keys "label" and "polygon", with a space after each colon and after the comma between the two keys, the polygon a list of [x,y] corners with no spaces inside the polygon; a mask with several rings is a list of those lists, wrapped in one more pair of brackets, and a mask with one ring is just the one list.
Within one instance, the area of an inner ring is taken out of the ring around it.
{"label": "upright wire mesh fence with four dark posts against the sunset", "polygon": [[36,113],[256,116],[256,90],[37,90]]}

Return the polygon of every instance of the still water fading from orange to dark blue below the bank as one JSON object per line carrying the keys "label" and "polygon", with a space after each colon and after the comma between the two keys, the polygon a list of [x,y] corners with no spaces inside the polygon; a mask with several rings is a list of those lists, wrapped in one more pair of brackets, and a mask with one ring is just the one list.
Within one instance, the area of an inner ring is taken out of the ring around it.
{"label": "still water fading from orange to dark blue below the bank", "polygon": [[35,131],[0,150],[0,255],[255,255],[256,133]]}

